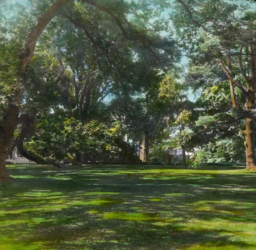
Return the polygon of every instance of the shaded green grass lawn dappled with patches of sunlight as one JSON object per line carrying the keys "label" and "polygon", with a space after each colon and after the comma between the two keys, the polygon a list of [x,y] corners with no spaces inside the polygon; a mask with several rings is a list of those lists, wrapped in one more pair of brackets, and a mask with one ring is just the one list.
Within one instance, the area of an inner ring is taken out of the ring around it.
{"label": "shaded green grass lawn dappled with patches of sunlight", "polygon": [[9,165],[0,250],[256,249],[244,167]]}

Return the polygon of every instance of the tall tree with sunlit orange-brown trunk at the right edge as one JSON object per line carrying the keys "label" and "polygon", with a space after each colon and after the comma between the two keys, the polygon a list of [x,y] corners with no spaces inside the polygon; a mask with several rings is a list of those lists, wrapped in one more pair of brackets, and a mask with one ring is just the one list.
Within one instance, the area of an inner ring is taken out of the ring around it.
{"label": "tall tree with sunlit orange-brown trunk at the right edge", "polygon": [[[246,169],[256,169],[255,1],[177,0],[172,15],[177,37],[194,65],[218,64],[230,86],[237,119],[245,120]],[[237,96],[242,93],[242,102]]]}

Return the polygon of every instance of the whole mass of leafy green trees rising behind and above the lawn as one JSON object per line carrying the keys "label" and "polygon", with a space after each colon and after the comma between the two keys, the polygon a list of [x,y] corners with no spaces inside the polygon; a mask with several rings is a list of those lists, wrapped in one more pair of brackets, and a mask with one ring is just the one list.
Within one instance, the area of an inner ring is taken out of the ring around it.
{"label": "whole mass of leafy green trees rising behind and above the lawn", "polygon": [[235,159],[218,150],[244,134],[255,169],[253,0],[43,0],[11,10],[0,26],[1,179],[14,147],[59,166],[138,161],[143,144],[148,162],[171,131],[183,165],[186,149],[209,145]]}

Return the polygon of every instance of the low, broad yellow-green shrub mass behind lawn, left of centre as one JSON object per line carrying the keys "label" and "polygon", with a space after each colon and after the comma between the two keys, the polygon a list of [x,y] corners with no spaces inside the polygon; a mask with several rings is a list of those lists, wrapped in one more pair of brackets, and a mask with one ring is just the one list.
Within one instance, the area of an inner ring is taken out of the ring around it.
{"label": "low, broad yellow-green shrub mass behind lawn, left of centre", "polygon": [[65,117],[64,110],[42,116],[31,137],[26,138],[25,147],[45,160],[75,161],[78,154],[88,160],[137,160],[136,148],[124,141],[120,123],[109,126],[91,120],[82,124]]}

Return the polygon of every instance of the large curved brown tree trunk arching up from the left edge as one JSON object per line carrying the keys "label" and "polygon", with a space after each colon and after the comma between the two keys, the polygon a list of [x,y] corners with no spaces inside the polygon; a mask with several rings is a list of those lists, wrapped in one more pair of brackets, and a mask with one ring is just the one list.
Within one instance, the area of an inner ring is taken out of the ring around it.
{"label": "large curved brown tree trunk arching up from the left edge", "polygon": [[11,137],[18,123],[20,105],[22,102],[24,87],[26,83],[26,69],[32,56],[34,55],[37,39],[47,24],[57,15],[58,10],[60,10],[67,3],[68,0],[56,0],[56,2],[38,18],[37,25],[30,30],[26,39],[24,50],[21,51],[21,64],[18,72],[19,81],[17,82],[19,89],[16,90],[16,92],[11,96],[5,115],[3,117],[3,123],[0,126],[0,180],[10,178],[10,176],[6,174],[6,159],[4,159],[4,157],[6,156]]}

